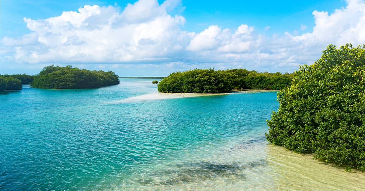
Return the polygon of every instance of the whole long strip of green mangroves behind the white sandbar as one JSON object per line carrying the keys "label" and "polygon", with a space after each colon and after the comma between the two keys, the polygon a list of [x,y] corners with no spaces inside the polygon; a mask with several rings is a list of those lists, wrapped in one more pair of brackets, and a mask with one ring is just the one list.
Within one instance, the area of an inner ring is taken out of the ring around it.
{"label": "whole long strip of green mangroves behind the white sandbar", "polygon": [[224,93],[233,89],[279,90],[291,85],[294,74],[257,72],[247,69],[193,69],[174,72],[158,83],[166,93]]}

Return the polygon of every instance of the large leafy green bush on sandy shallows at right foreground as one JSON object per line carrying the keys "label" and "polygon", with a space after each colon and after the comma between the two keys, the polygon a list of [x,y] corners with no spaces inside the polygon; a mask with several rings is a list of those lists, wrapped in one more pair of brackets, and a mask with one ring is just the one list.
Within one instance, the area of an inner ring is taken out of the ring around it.
{"label": "large leafy green bush on sandy shallows at right foreground", "polygon": [[365,45],[329,45],[278,93],[267,139],[327,163],[365,171]]}

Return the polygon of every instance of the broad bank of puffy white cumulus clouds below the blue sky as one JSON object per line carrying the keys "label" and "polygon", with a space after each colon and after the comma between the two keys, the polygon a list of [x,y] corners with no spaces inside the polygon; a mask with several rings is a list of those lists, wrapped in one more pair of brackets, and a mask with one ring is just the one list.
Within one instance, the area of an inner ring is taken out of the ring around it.
{"label": "broad bank of puffy white cumulus clouds below the blue sky", "polygon": [[[162,4],[139,0],[122,9],[85,5],[48,19],[24,18],[32,32],[1,39],[0,59],[2,64],[97,63],[99,68],[178,63],[178,69],[294,71],[299,64],[318,59],[327,44],[365,43],[364,0],[346,3],[331,14],[314,11],[312,32],[272,36],[257,33],[254,26],[246,24],[233,29],[211,25],[197,33],[183,31],[185,18],[170,14],[181,8],[179,0]],[[307,26],[301,24],[300,29]]]}

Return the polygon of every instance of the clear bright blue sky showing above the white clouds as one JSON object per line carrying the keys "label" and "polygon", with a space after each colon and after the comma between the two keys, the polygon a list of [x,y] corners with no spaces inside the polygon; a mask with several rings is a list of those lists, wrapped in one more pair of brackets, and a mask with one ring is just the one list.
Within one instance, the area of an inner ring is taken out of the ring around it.
{"label": "clear bright blue sky showing above the white clouds", "polygon": [[[77,11],[84,5],[115,5],[125,7],[135,1],[75,1],[75,0],[2,0],[1,1],[1,38],[16,37],[29,33],[23,18],[46,19],[59,16],[63,11]],[[163,1],[159,1],[162,3]],[[185,17],[187,23],[182,27],[187,31],[200,32],[210,25],[234,28],[242,23],[255,26],[266,33],[284,33],[300,29],[305,24],[308,30],[314,26],[312,12],[330,11],[345,7],[340,0],[308,1],[196,1],[183,0],[183,10],[176,11]],[[304,31],[303,31],[304,32]]]}

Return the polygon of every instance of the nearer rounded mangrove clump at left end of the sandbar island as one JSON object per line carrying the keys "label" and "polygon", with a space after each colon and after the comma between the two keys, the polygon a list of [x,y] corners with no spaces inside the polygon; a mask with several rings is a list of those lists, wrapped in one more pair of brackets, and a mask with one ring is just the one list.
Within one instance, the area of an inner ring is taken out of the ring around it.
{"label": "nearer rounded mangrove clump at left end of the sandbar island", "polygon": [[158,83],[158,91],[166,93],[223,93],[232,90],[229,75],[214,69],[174,72]]}

